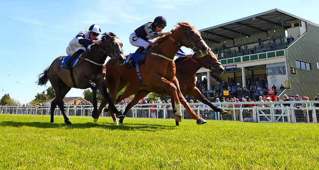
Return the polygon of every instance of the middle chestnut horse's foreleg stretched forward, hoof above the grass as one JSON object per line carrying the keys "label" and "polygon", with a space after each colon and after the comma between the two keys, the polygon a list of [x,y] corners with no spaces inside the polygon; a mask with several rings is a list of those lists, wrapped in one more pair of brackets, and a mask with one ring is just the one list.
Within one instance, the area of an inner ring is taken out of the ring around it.
{"label": "middle chestnut horse's foreleg stretched forward, hoof above the grass", "polygon": [[201,125],[201,124],[206,123],[206,121],[205,121],[203,118],[201,118],[200,116],[198,116],[198,115],[192,110],[192,108],[188,105],[186,99],[184,98],[183,94],[182,94],[181,91],[180,91],[179,83],[178,83],[177,78],[174,76],[171,81],[172,81],[172,83],[174,83],[174,85],[176,85],[176,87],[177,87],[176,92],[177,92],[177,95],[178,95],[178,99],[179,99],[180,102],[183,104],[183,106],[185,107],[185,109],[186,109],[187,112],[189,113],[190,117],[191,117],[192,119],[195,119],[195,120],[197,121],[197,124],[198,124],[198,125]]}

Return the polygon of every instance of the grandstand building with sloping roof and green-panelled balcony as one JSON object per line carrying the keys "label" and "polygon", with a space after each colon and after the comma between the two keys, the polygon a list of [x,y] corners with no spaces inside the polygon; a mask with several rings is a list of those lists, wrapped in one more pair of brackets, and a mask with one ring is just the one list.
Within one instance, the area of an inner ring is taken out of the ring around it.
{"label": "grandstand building with sloping roof and green-panelled balcony", "polygon": [[[273,9],[199,31],[207,45],[214,47],[216,56],[220,52],[218,60],[225,67],[222,75],[204,68],[197,72],[200,79],[207,77],[208,90],[211,86],[221,88],[228,77],[234,77],[241,87],[246,86],[249,73],[252,87],[263,88],[261,80],[265,78],[269,88],[283,85],[288,96],[299,94],[312,100],[319,93],[318,24]],[[290,36],[294,41],[287,42]]]}

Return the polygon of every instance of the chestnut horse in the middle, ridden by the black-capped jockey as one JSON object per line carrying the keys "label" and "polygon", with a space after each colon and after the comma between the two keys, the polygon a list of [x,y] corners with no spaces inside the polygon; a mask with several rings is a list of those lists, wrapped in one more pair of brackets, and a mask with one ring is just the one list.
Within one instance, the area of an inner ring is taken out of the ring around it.
{"label": "chestnut horse in the middle, ridden by the black-capped jockey", "polygon": [[[107,70],[107,73],[105,79],[107,80],[107,86],[112,101],[116,101],[116,94],[125,85],[127,85],[126,90],[121,95],[120,100],[125,99],[142,89],[163,87],[169,91],[171,99],[174,99],[175,101],[176,112],[174,113],[174,116],[177,121],[181,121],[182,119],[182,102],[186,110],[189,113],[193,113],[192,118],[197,120],[198,124],[206,123],[204,119],[196,115],[189,107],[182,95],[179,89],[178,80],[175,77],[175,63],[173,62],[173,58],[176,52],[181,48],[181,45],[193,49],[198,52],[200,56],[204,56],[208,53],[209,48],[202,40],[201,33],[190,24],[180,22],[178,23],[178,26],[172,30],[171,36],[162,36],[153,42],[152,45],[154,48],[151,49],[151,54],[150,52],[147,53],[148,55],[146,55],[145,63],[139,67],[145,86],[140,83],[138,76],[136,76],[135,69],[126,68],[125,66],[115,66],[113,63],[114,61],[108,61],[106,63],[105,69]],[[112,72],[110,70],[112,70]],[[100,106],[99,108],[99,113],[101,113],[101,110],[105,105],[106,101],[103,99],[101,103],[102,107]],[[111,115],[113,119],[116,120],[112,112]],[[117,124],[117,121],[115,123]]]}

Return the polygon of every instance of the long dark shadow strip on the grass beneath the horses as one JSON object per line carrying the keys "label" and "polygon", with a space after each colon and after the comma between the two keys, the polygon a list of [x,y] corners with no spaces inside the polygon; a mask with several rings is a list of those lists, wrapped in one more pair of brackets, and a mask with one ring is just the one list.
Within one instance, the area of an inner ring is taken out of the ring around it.
{"label": "long dark shadow strip on the grass beneath the horses", "polygon": [[67,125],[65,123],[49,123],[49,122],[14,122],[14,121],[2,121],[0,127],[34,127],[34,128],[105,128],[110,130],[143,130],[143,131],[157,131],[163,129],[175,129],[175,126],[166,125],[149,125],[149,124],[129,124],[125,123],[120,126],[116,126],[113,123],[74,123]]}

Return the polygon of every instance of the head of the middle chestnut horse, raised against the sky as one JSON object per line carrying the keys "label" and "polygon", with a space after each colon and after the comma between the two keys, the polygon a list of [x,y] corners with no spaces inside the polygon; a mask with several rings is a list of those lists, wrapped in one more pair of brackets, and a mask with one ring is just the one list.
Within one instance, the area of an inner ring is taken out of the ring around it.
{"label": "head of the middle chestnut horse, raised against the sky", "polygon": [[187,22],[179,22],[176,31],[184,31],[181,37],[181,45],[192,49],[194,52],[198,53],[200,56],[205,56],[208,53],[209,47],[206,42],[201,38],[201,33],[195,27],[191,26]]}

